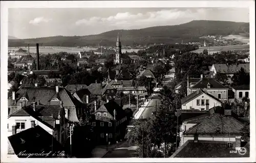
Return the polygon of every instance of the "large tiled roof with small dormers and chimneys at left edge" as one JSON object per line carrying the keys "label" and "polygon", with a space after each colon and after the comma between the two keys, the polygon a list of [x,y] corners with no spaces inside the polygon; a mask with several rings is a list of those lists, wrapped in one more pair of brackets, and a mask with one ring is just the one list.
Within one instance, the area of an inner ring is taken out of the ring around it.
{"label": "large tiled roof with small dormers and chimneys at left edge", "polygon": [[69,91],[63,87],[23,87],[12,92],[8,99],[8,114],[18,111],[33,102],[37,105],[59,105],[62,101],[67,119],[70,122],[79,122],[79,118],[86,110],[86,105],[79,102]]}

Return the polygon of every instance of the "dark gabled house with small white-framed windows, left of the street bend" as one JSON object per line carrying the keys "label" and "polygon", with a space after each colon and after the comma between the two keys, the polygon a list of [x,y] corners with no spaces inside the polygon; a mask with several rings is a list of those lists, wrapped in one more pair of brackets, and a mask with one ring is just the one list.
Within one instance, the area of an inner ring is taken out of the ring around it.
{"label": "dark gabled house with small white-framed windows, left of the street bend", "polygon": [[124,110],[114,101],[95,107],[95,121],[92,122],[97,142],[100,144],[114,143],[124,139],[126,130],[126,115]]}

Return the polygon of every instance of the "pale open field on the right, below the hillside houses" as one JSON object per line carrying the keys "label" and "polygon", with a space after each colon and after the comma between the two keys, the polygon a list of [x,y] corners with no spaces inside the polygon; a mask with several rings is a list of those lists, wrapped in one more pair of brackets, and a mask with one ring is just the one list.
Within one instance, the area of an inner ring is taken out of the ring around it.
{"label": "pale open field on the right, below the hillside houses", "polygon": [[227,51],[227,50],[243,50],[243,49],[250,49],[250,45],[230,45],[230,46],[210,46],[210,47],[200,47],[197,50],[193,50],[191,52],[203,52],[204,49],[209,50],[210,48],[210,54],[214,52],[220,52],[220,51]]}

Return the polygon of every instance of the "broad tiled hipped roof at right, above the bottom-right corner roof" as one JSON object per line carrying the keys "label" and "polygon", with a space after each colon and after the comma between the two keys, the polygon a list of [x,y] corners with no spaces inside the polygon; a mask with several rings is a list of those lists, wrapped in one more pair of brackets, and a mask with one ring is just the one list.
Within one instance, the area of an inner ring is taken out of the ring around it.
{"label": "broad tiled hipped roof at right, above the bottom-right corner roof", "polygon": [[[220,128],[220,132],[217,132],[217,127]],[[243,127],[243,124],[232,116],[224,116],[220,113],[214,113],[208,118],[204,118],[201,123],[186,130],[183,135],[195,133],[211,135],[240,135],[240,129]]]}

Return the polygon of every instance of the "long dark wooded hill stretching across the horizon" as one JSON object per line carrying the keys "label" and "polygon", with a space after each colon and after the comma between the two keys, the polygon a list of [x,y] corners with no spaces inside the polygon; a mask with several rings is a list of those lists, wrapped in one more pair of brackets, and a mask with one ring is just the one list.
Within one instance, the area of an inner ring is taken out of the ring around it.
{"label": "long dark wooded hill stretching across the horizon", "polygon": [[154,43],[184,43],[202,41],[204,35],[236,35],[249,32],[249,23],[232,21],[193,20],[179,25],[154,26],[139,30],[114,30],[89,36],[54,36],[35,39],[9,40],[9,47],[41,43],[43,46],[113,46],[119,33],[122,45],[148,45]]}

